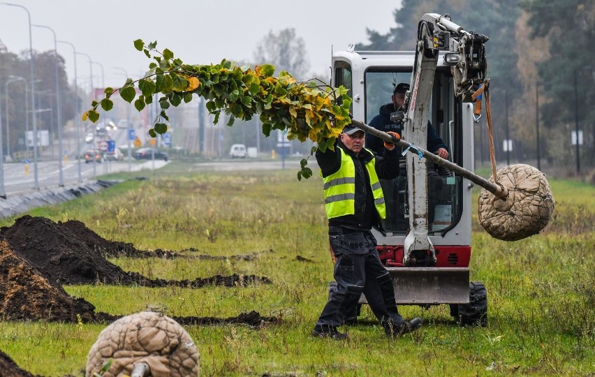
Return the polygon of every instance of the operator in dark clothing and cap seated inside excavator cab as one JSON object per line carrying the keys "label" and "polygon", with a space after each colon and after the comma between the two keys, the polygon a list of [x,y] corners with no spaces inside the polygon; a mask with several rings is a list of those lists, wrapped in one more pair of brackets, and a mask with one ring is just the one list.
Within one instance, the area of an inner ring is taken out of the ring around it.
{"label": "operator in dark clothing and cap seated inside excavator cab", "polygon": [[[379,114],[372,118],[369,125],[380,131],[392,131],[402,135],[403,124],[390,121],[390,114],[402,108],[405,102],[405,92],[408,90],[409,84],[405,82],[398,84],[390,97],[392,102],[382,105]],[[384,151],[383,140],[373,135],[367,136],[366,147],[372,149],[374,153],[380,156],[382,156]],[[448,158],[448,148],[429,121],[427,122],[427,150],[442,158]]]}

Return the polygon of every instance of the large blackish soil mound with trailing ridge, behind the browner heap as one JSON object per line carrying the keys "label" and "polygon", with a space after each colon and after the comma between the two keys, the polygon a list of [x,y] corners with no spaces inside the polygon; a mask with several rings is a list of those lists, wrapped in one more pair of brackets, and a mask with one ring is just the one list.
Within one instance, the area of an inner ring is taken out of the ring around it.
{"label": "large blackish soil mound with trailing ridge, behind the browner heap", "polygon": [[200,288],[210,285],[246,286],[256,281],[271,283],[267,277],[255,275],[216,275],[205,279],[174,281],[148,279],[137,272],[124,272],[106,260],[102,253],[140,252],[132,244],[103,239],[80,221],[54,223],[44,217],[26,215],[17,219],[13,226],[0,228],[0,235],[8,241],[20,258],[27,260],[48,280],[59,284],[100,282],[108,285],[139,285],[153,288]]}

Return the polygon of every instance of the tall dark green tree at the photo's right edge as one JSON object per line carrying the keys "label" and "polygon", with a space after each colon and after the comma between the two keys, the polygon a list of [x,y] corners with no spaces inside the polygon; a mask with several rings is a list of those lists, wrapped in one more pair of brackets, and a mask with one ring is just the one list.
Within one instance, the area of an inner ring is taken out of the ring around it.
{"label": "tall dark green tree at the photo's right edge", "polygon": [[[583,165],[593,167],[595,133],[595,2],[592,0],[526,0],[522,7],[529,14],[532,40],[548,40],[548,57],[538,62],[541,92],[540,107],[548,138],[548,152],[561,165],[576,158],[571,131],[576,118],[583,133]],[[577,95],[578,94],[578,95]],[[554,136],[555,137],[554,137]],[[556,142],[552,142],[552,139]]]}

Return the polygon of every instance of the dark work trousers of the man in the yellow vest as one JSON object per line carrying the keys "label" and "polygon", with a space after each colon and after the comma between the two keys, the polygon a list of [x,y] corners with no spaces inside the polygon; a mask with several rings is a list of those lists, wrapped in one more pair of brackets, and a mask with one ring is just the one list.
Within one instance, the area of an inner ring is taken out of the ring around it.
{"label": "dark work trousers of the man in the yellow vest", "polygon": [[334,274],[337,286],[330,293],[314,329],[328,331],[353,318],[362,293],[383,325],[403,323],[397,311],[392,281],[380,261],[372,232],[336,232],[340,230],[330,228],[330,244],[337,257]]}

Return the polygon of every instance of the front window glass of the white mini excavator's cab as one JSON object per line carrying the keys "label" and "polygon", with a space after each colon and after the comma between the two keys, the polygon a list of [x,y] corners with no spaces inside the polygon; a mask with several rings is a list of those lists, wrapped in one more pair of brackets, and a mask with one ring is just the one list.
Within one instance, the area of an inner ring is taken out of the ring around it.
{"label": "front window glass of the white mini excavator's cab", "polygon": [[[339,77],[337,75],[337,77]],[[391,103],[395,85],[411,81],[411,68],[368,68],[365,73],[365,122],[369,124],[381,106]],[[446,69],[436,70],[428,121],[448,147],[449,160],[462,159],[460,103],[453,96],[453,79]],[[397,110],[397,109],[395,109]],[[429,150],[429,147],[426,146]],[[396,179],[381,179],[386,203],[383,227],[388,234],[405,235],[409,228],[407,203],[407,175],[404,158],[399,164],[401,175]],[[456,225],[462,214],[462,177],[455,177],[445,169],[428,165],[428,230],[447,232]]]}

